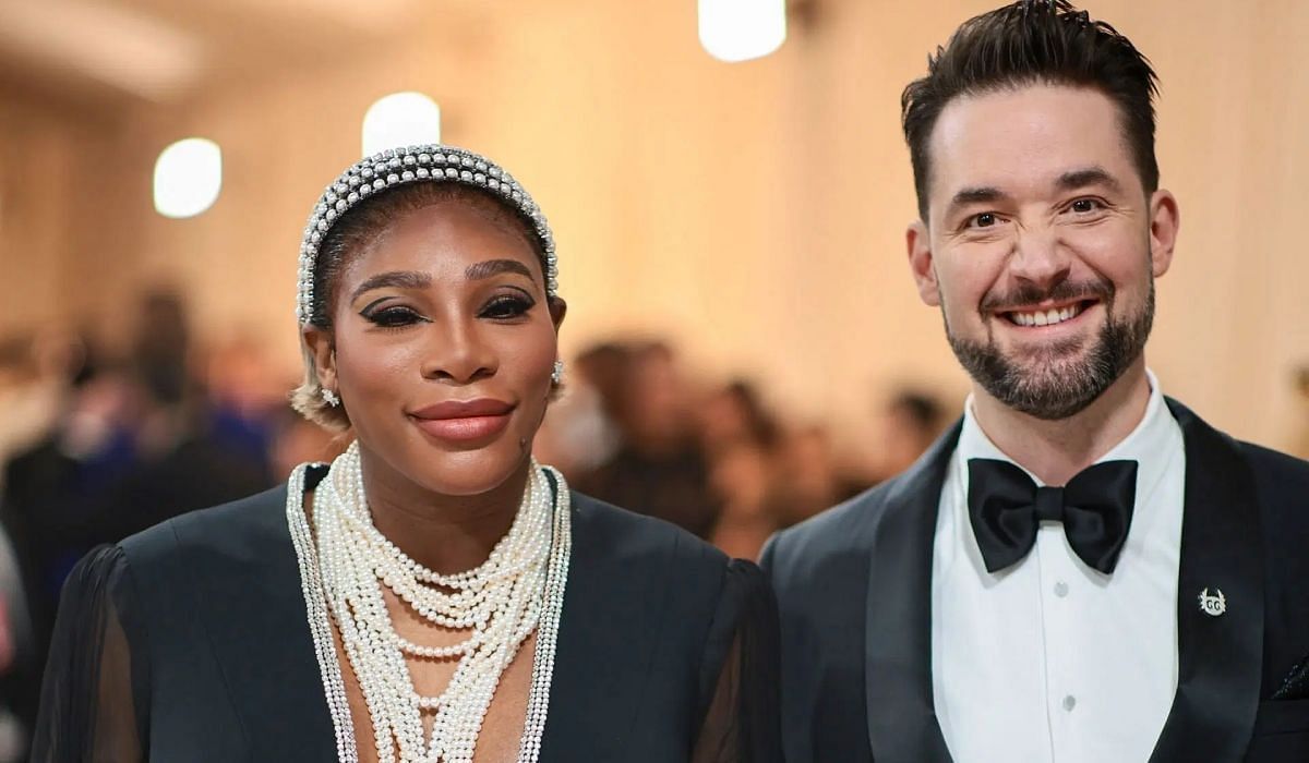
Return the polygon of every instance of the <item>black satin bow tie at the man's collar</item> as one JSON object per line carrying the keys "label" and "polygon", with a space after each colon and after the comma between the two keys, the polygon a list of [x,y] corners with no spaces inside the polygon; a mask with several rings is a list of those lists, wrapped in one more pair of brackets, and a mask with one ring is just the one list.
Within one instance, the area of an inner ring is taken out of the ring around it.
{"label": "black satin bow tie at the man's collar", "polygon": [[1037,487],[1008,461],[969,459],[969,521],[987,572],[1020,561],[1041,522],[1055,521],[1063,522],[1073,552],[1107,575],[1127,541],[1135,499],[1135,461],[1096,463],[1064,487]]}

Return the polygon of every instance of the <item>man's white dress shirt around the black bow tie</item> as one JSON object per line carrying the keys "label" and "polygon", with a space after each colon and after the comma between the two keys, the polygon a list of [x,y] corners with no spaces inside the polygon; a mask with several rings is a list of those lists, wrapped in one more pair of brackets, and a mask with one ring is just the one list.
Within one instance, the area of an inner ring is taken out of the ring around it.
{"label": "man's white dress shirt around the black bow tie", "polygon": [[986,571],[969,522],[967,461],[1013,459],[969,400],[932,551],[932,691],[956,763],[1149,758],[1177,690],[1186,475],[1182,431],[1152,373],[1149,385],[1145,416],[1100,459],[1139,463],[1113,575],[1083,563],[1059,522],[1041,522],[1022,561]]}

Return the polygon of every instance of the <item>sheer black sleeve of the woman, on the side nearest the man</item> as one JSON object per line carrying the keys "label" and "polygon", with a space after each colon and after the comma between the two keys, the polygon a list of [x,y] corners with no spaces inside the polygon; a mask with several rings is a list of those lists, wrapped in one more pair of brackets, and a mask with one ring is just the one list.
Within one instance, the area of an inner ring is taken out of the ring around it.
{"label": "sheer black sleeve of the woman, on the side nearest the man", "polygon": [[772,589],[758,567],[733,559],[700,667],[692,763],[780,763],[779,661]]}

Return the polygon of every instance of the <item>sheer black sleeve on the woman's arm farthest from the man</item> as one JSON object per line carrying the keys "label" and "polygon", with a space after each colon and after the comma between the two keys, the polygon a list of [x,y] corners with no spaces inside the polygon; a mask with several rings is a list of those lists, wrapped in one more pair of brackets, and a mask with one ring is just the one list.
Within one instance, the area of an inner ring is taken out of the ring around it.
{"label": "sheer black sleeve on the woman's arm farthest from the man", "polygon": [[[123,551],[103,546],[64,584],[33,739],[33,763],[144,762],[134,686],[145,686]],[[134,662],[134,652],[139,658]]]}

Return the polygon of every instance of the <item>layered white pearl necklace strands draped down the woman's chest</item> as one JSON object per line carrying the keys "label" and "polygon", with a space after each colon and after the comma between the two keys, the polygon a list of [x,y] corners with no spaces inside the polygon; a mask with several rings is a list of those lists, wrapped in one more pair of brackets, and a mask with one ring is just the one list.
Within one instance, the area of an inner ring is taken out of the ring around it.
{"label": "layered white pearl necklace strands draped down the woman's chest", "polygon": [[[373,526],[357,442],[332,462],[314,491],[313,529],[304,510],[306,467],[301,465],[291,475],[287,520],[300,561],[339,760],[357,763],[359,753],[332,622],[364,694],[382,763],[397,760],[397,749],[399,760],[406,763],[470,763],[500,677],[522,641],[535,631],[531,690],[518,746],[518,763],[535,763],[550,705],[572,550],[571,506],[563,475],[533,461],[513,525],[486,563],[457,575],[439,575],[410,559]],[[554,491],[547,470],[556,486]],[[442,628],[469,630],[469,637],[448,647],[403,639],[391,624],[382,586],[424,620]],[[458,657],[459,662],[440,696],[420,696],[406,654]],[[435,715],[429,738],[423,732],[424,713]]]}

